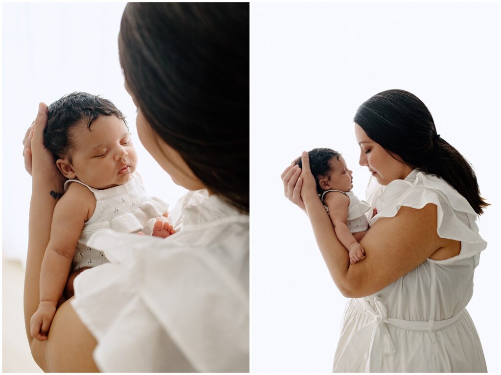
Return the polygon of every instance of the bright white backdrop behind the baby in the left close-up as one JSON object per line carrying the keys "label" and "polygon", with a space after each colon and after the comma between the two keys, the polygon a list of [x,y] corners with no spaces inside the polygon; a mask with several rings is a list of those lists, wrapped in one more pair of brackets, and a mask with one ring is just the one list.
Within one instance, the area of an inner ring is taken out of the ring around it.
{"label": "bright white backdrop behind the baby in the left close-up", "polygon": [[3,4],[3,253],[26,260],[31,177],[22,140],[39,102],[74,91],[111,100],[128,120],[145,186],[170,203],[186,192],[147,153],[137,137],[136,108],[125,91],[118,32],[125,3]]}

